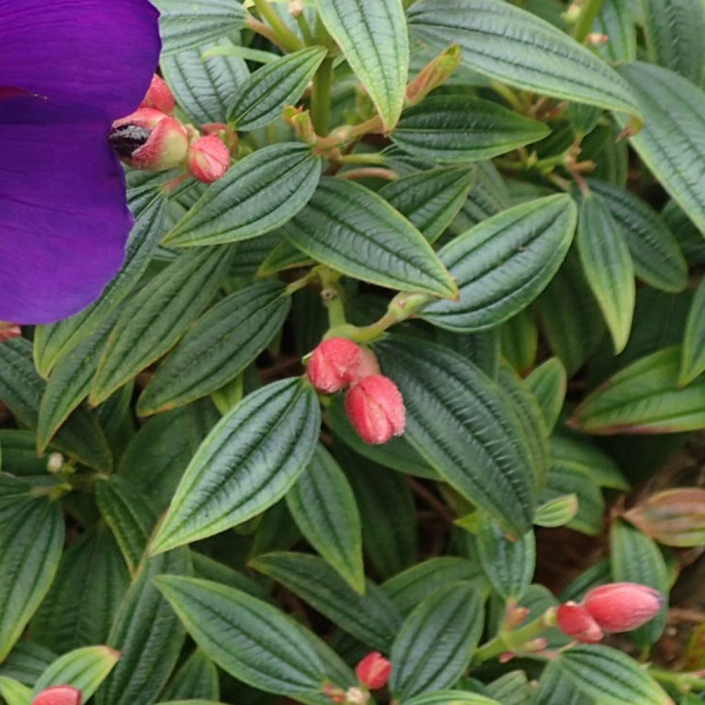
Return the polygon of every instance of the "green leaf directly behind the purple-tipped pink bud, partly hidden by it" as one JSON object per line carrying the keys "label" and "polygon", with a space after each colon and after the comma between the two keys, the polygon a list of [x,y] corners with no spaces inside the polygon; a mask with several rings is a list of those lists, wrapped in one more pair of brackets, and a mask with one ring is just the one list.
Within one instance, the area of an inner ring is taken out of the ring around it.
{"label": "green leaf directly behind the purple-tipped pink bud, partly hidden by it", "polygon": [[658,590],[666,604],[639,629],[630,633],[631,639],[646,649],[655,644],[666,627],[670,573],[663,553],[656,541],[636,527],[617,519],[610,529],[610,565],[615,582],[637,582]]}

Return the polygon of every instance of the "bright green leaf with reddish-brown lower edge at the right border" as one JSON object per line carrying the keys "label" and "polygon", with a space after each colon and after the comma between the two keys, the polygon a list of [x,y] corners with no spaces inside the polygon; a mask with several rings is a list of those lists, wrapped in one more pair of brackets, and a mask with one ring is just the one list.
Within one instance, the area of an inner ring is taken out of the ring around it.
{"label": "bright green leaf with reddish-brown lower edge at the right border", "polygon": [[577,408],[589,434],[671,434],[705,425],[705,379],[678,387],[680,348],[658,350],[620,370]]}

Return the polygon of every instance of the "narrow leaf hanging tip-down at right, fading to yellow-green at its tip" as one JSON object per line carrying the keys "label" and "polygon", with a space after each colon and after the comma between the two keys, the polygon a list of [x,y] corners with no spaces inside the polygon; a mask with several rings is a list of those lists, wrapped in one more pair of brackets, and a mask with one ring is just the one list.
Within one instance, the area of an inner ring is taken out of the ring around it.
{"label": "narrow leaf hanging tip-down at right, fading to yellow-green at its tip", "polygon": [[587,283],[602,310],[618,355],[629,340],[637,292],[632,257],[622,229],[599,196],[591,194],[582,199],[576,240]]}

